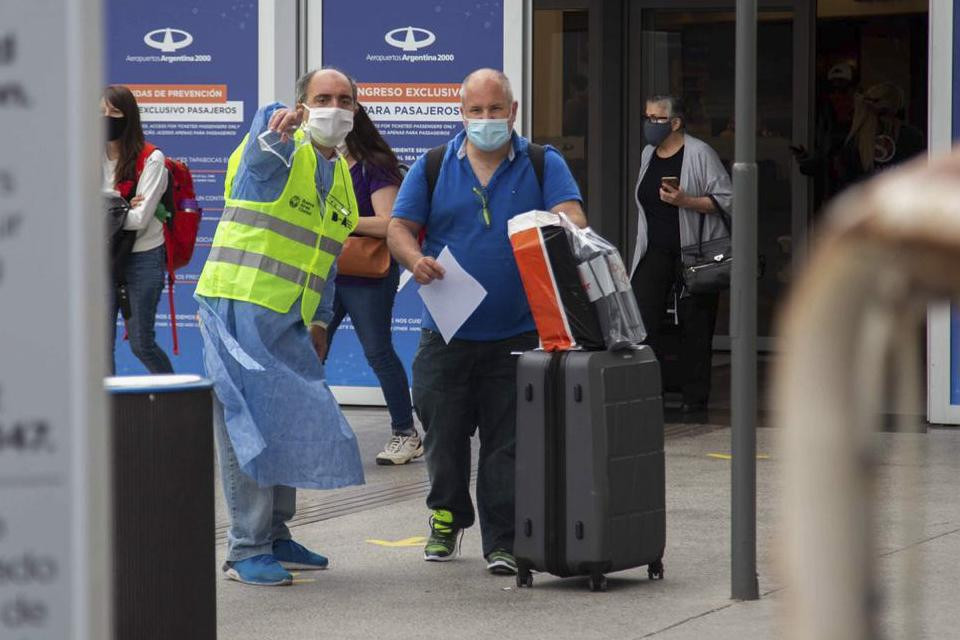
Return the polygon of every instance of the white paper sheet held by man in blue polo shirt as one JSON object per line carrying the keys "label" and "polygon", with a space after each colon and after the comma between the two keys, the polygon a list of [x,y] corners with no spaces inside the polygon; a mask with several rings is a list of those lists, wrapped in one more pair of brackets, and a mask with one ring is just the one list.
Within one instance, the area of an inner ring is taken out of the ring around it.
{"label": "white paper sheet held by man in blue polo shirt", "polygon": [[454,334],[487,297],[487,290],[464,271],[450,253],[450,247],[443,248],[437,256],[437,262],[445,271],[443,280],[421,285],[420,297],[437,323],[440,335],[449,344]]}

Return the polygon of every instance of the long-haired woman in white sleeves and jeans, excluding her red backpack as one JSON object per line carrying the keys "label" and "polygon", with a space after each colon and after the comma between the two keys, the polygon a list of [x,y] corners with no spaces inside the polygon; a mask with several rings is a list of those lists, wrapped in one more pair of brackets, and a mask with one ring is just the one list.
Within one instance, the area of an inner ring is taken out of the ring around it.
{"label": "long-haired woman in white sleeves and jeans, excluding her red backpack", "polygon": [[[173,373],[170,358],[157,344],[154,333],[167,265],[163,222],[157,216],[168,181],[163,153],[144,140],[140,108],[129,89],[107,87],[101,109],[106,130],[103,190],[117,192],[130,202],[123,229],[136,233],[132,249],[122,258],[112,283],[111,349],[116,342],[117,311],[121,310],[133,354],[150,373]],[[113,369],[115,364],[111,365]]]}

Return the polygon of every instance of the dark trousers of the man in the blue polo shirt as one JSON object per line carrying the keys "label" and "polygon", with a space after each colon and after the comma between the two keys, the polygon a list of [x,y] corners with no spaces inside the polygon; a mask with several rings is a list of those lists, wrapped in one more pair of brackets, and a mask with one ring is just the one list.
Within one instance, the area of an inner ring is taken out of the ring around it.
{"label": "dark trousers of the man in the blue polo shirt", "polygon": [[517,430],[517,351],[536,348],[535,333],[506,340],[445,344],[424,330],[413,362],[413,403],[426,434],[427,507],[446,509],[457,528],[474,523],[470,437],[480,432],[477,512],[483,554],[512,552]]}

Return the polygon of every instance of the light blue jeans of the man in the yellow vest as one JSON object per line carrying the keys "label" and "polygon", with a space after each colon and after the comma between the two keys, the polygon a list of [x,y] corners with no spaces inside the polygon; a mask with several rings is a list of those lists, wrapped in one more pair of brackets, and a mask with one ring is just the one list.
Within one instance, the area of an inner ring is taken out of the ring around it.
{"label": "light blue jeans of the man in the yellow vest", "polygon": [[238,562],[272,554],[274,540],[290,539],[287,522],[297,511],[297,490],[280,485],[261,487],[244,473],[227,434],[223,405],[216,395],[213,399],[213,426],[223,497],[230,514],[227,561]]}

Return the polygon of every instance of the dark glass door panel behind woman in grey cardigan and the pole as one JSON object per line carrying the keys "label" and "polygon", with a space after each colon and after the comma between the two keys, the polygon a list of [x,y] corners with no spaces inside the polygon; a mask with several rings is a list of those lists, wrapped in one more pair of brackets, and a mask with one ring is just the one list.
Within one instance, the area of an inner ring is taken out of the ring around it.
{"label": "dark glass door panel behind woman in grey cardigan and the pole", "polygon": [[[656,94],[680,96],[687,107],[687,131],[709,144],[728,171],[734,155],[735,14],[728,11],[646,12],[637,51],[642,72],[633,109]],[[758,247],[763,274],[758,282],[758,332],[772,332],[774,310],[789,279],[793,157],[792,16],[762,12],[757,50]],[[631,114],[631,118],[635,115]],[[634,215],[636,215],[634,213]],[[736,222],[734,222],[736,226]],[[727,296],[717,335],[728,333]]]}

